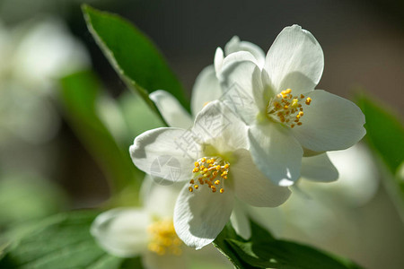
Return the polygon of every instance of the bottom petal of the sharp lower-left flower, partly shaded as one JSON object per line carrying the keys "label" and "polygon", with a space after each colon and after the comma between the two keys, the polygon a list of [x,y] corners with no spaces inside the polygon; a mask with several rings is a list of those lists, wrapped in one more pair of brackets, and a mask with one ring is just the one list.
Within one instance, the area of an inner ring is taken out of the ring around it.
{"label": "bottom petal of the sharp lower-left flower, partly shaded", "polygon": [[211,243],[229,221],[233,200],[230,187],[223,194],[205,186],[190,193],[184,187],[174,209],[174,228],[180,239],[197,249]]}

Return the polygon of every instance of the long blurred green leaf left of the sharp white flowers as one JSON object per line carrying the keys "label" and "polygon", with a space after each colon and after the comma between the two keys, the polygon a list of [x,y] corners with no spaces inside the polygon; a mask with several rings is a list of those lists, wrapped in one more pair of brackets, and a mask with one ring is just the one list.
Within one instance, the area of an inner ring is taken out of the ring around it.
{"label": "long blurred green leaf left of the sharp white flowers", "polygon": [[119,148],[96,113],[96,102],[101,95],[96,77],[92,72],[84,71],[66,76],[60,82],[66,117],[84,146],[104,169],[113,190],[119,192],[130,184],[138,184],[140,180],[135,179],[143,179],[143,173],[133,165],[127,149]]}

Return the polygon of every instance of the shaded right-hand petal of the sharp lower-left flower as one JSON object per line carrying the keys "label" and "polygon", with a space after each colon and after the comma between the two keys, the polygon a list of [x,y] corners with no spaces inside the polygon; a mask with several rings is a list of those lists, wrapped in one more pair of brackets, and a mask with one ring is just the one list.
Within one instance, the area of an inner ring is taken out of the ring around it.
{"label": "shaded right-hand petal of the sharp lower-left flower", "polygon": [[[287,187],[274,185],[253,163],[250,152],[234,152],[237,161],[230,168],[234,192],[243,202],[253,206],[275,207],[285,203],[290,195]],[[230,175],[229,173],[229,175]]]}

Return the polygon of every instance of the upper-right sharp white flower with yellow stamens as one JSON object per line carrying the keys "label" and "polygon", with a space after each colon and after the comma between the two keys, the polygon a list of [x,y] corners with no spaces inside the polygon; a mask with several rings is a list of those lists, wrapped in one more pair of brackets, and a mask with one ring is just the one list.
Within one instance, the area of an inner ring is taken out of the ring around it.
{"label": "upper-right sharp white flower with yellow stamens", "polygon": [[321,47],[300,26],[286,27],[261,68],[249,52],[224,58],[220,80],[227,100],[243,91],[250,101],[235,106],[249,125],[252,158],[280,186],[300,177],[302,157],[346,149],[365,134],[364,115],[349,100],[314,90],[324,65]]}

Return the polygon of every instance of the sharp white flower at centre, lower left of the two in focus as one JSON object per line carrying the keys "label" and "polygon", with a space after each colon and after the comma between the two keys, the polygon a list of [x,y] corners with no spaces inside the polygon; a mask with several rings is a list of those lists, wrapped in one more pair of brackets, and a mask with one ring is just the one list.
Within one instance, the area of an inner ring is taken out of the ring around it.
{"label": "sharp white flower at centre, lower left of the two in focus", "polygon": [[[174,227],[190,247],[206,246],[223,230],[234,197],[254,206],[277,206],[290,195],[256,169],[246,150],[246,131],[232,110],[215,100],[198,113],[190,130],[157,128],[137,136],[130,147],[137,168],[185,183]],[[171,169],[164,172],[164,166]]]}

